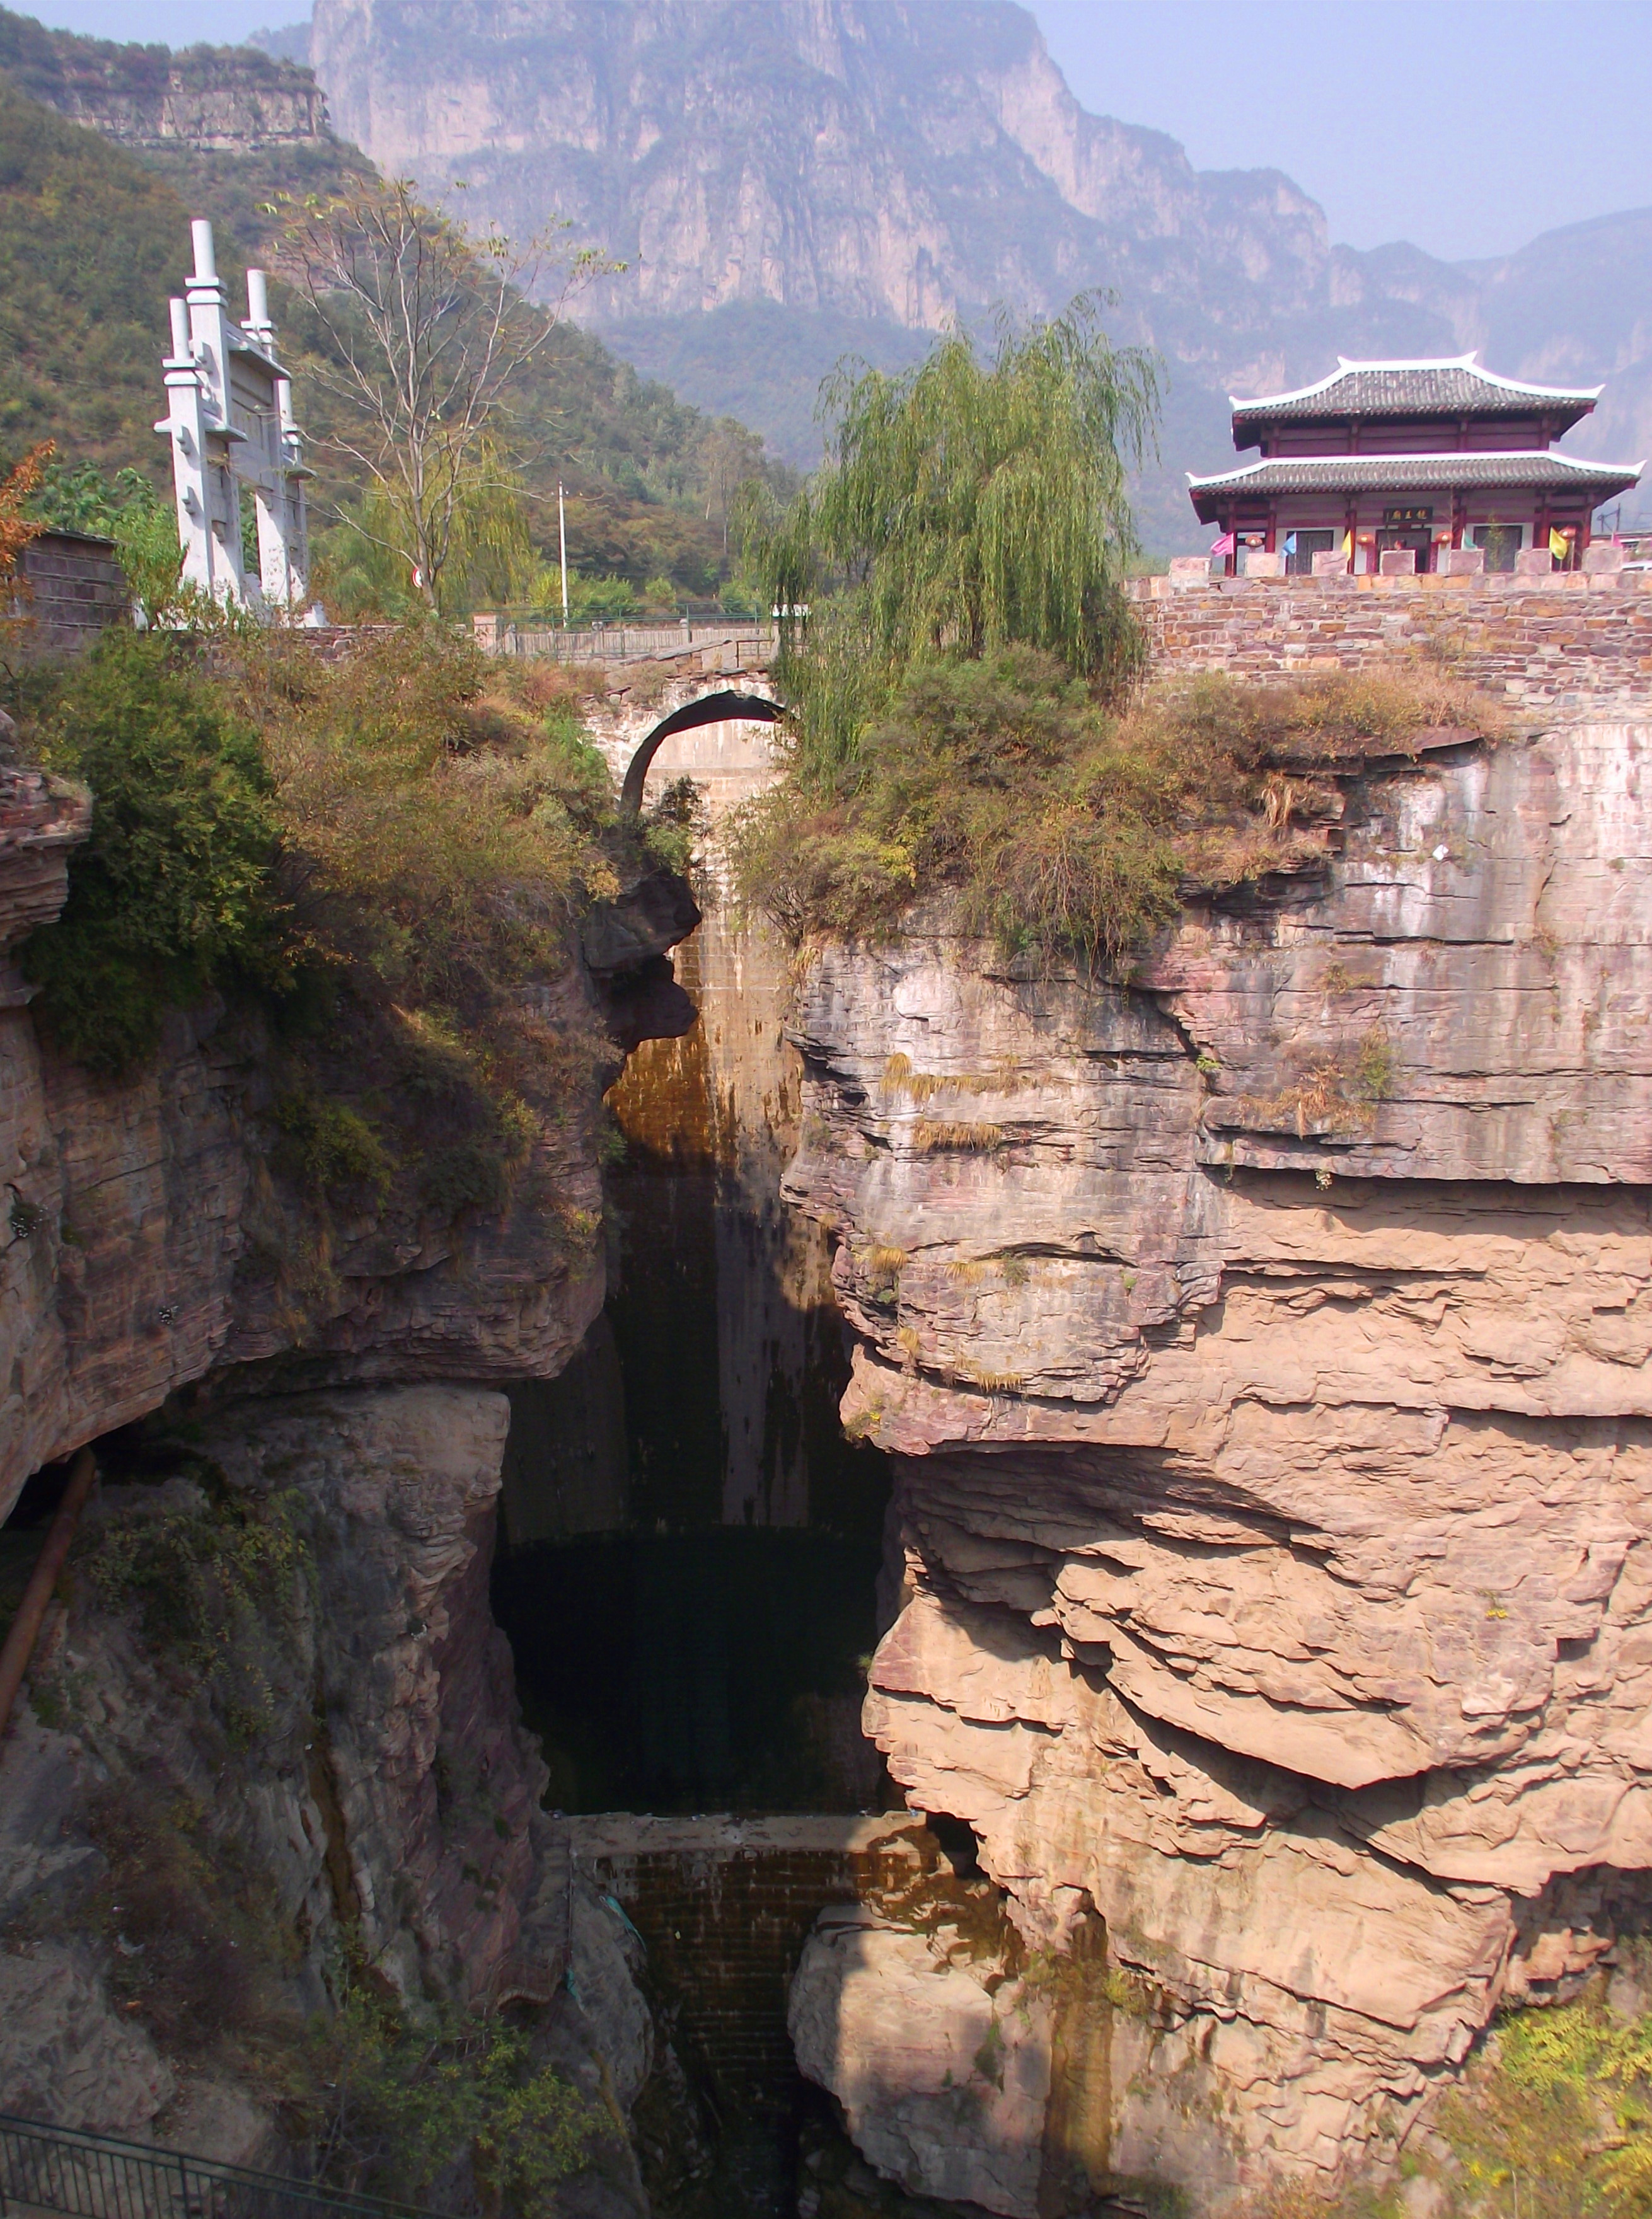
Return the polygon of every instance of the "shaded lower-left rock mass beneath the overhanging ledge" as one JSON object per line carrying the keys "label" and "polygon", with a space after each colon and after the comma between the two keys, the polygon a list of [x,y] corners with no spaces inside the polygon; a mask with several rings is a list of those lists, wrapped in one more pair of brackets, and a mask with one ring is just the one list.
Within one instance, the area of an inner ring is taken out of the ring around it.
{"label": "shaded lower-left rock mass beneath the overhanging ledge", "polygon": [[[488,1613],[506,1422],[475,1387],[264,1398],[104,1489],[0,1757],[9,2110],[269,2159],[346,1964],[415,2008],[551,2006],[593,2119],[635,2097],[633,1944],[575,1895]],[[189,1582],[249,1533],[204,1660]],[[162,1615],[153,1580],[184,1584]],[[611,2155],[604,2208],[642,2208]]]}

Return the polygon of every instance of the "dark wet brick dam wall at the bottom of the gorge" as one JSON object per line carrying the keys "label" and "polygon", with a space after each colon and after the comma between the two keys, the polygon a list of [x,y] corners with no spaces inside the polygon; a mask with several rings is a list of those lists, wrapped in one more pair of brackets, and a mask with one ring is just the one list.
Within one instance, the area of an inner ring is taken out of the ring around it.
{"label": "dark wet brick dam wall at the bottom of the gorge", "polygon": [[797,2093],[786,1995],[826,1904],[897,1893],[939,1862],[919,1817],[568,1822],[580,1871],[624,1906],[684,2059],[724,2117],[784,2115]]}

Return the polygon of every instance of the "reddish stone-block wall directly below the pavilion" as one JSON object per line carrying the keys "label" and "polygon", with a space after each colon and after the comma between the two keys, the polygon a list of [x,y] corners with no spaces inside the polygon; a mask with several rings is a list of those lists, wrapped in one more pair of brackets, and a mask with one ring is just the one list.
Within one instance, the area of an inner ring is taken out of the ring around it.
{"label": "reddish stone-block wall directly below the pavilion", "polygon": [[[1652,588],[1652,577],[1648,579]],[[1652,701],[1652,590],[1639,573],[1552,579],[1139,579],[1152,666],[1241,679],[1426,657],[1534,715]]]}

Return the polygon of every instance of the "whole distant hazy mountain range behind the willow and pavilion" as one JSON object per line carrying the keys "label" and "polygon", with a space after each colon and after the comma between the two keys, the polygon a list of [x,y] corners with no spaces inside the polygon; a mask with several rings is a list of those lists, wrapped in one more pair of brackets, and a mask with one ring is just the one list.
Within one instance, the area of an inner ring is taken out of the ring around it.
{"label": "whole distant hazy mountain range behind the willow and pavilion", "polygon": [[839,353],[897,364],[948,317],[1084,286],[1112,288],[1115,328],[1172,373],[1168,468],[1144,486],[1159,546],[1197,537],[1179,470],[1221,462],[1226,393],[1337,351],[1483,344],[1512,373],[1614,375],[1599,433],[1652,444],[1628,304],[1652,220],[1488,268],[1334,246],[1279,171],[1199,173],[1164,133],[1086,113],[1008,0],[318,0],[309,58],[382,166],[464,180],[515,233],[566,215],[620,255],[584,313],[799,459]]}

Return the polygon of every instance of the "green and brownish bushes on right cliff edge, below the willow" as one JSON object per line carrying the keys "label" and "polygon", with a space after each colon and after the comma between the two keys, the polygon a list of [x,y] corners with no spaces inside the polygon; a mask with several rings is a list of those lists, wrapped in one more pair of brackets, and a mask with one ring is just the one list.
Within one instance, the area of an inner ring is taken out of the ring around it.
{"label": "green and brownish bushes on right cliff edge, below the willow", "polygon": [[[793,743],[735,825],[742,896],[799,943],[877,936],[950,892],[968,930],[1044,959],[1117,963],[1190,883],[1237,885],[1323,854],[1323,772],[1488,715],[1439,683],[1223,679],[1112,708],[1032,648],[915,666],[855,754]],[[1281,770],[1290,766],[1290,770]],[[1392,1054],[1372,1041],[1361,1085]]]}

